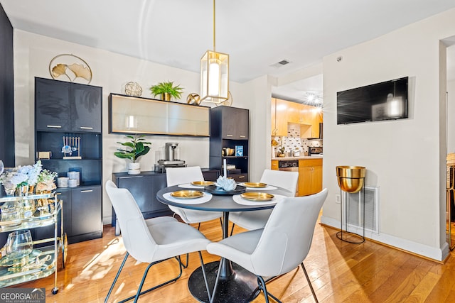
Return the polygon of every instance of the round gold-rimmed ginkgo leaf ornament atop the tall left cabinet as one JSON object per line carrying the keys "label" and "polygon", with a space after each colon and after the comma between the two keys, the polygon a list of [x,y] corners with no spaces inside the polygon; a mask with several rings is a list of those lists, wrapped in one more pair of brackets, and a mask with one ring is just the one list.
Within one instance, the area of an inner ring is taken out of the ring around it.
{"label": "round gold-rimmed ginkgo leaf ornament atop the tall left cabinet", "polygon": [[73,54],[56,55],[49,62],[49,73],[52,79],[69,79],[75,82],[76,79],[85,79],[86,84],[92,81],[92,69],[80,57]]}

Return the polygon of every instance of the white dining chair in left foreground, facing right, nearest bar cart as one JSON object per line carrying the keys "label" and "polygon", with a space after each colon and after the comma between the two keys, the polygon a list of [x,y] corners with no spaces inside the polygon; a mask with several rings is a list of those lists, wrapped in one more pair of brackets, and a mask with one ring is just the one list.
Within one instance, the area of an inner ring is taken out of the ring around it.
{"label": "white dining chair in left foreground, facing right, nearest bar cart", "polygon": [[[204,263],[200,253],[200,250],[205,250],[205,247],[210,241],[196,228],[178,222],[171,217],[158,217],[148,219],[147,221],[144,220],[144,216],[142,216],[141,210],[129,190],[117,188],[114,182],[110,180],[106,182],[106,192],[117,214],[122,229],[123,243],[127,249],[127,253],[125,254],[117,275],[114,277],[114,281],[107,293],[105,302],[109,299],[129,255],[137,261],[149,263],[149,265],[144,271],[136,295],[123,299],[121,302],[126,302],[133,298],[134,302],[137,302],[141,294],[156,290],[158,287],[178,280],[183,272],[180,255],[196,251],[199,253],[205,288],[208,292],[208,297],[210,297],[208,283],[205,277]],[[151,287],[148,290],[141,291],[150,268],[157,263],[161,263],[164,260],[171,258],[177,258],[180,274],[171,280]],[[126,290],[122,290],[122,292],[125,291]]]}

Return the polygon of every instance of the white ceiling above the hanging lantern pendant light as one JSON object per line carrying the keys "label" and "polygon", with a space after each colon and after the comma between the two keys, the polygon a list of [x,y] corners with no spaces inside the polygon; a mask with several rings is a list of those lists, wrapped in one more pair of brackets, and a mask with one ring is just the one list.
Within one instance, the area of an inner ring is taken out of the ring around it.
{"label": "white ceiling above the hanging lantern pendant light", "polygon": [[[0,0],[14,28],[199,72],[213,50],[212,0]],[[218,0],[215,50],[230,79],[282,77],[325,55],[455,7],[453,0]],[[277,62],[287,60],[287,65]],[[322,92],[322,76],[273,93]]]}

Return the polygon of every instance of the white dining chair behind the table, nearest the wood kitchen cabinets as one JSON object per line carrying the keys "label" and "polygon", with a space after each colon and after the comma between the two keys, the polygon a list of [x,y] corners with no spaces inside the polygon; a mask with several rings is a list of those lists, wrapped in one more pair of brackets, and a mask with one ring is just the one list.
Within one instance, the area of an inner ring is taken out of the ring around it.
{"label": "white dining chair behind the table, nearest the wood kitchen cabinets", "polygon": [[[286,190],[289,197],[294,197],[296,193],[299,172],[287,172],[284,170],[264,170],[259,182],[267,185],[281,187]],[[272,209],[262,209],[259,211],[232,211],[229,220],[232,222],[231,235],[235,225],[249,231],[263,228],[272,214]]]}

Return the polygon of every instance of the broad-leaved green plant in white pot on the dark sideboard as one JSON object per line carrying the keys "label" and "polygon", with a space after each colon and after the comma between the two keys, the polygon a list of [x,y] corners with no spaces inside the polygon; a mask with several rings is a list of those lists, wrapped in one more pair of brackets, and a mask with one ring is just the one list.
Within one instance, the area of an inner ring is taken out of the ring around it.
{"label": "broad-leaved green plant in white pot on the dark sideboard", "polygon": [[132,160],[132,163],[128,163],[128,173],[129,175],[137,175],[141,172],[140,165],[137,161],[141,155],[146,155],[146,153],[149,153],[150,147],[147,146],[151,144],[150,142],[144,142],[145,135],[141,136],[129,136],[126,135],[125,137],[130,138],[130,141],[127,142],[117,142],[119,144],[122,144],[123,146],[127,146],[130,148],[129,150],[125,150],[122,148],[117,148],[117,151],[114,153],[115,156],[121,159],[129,159]]}

